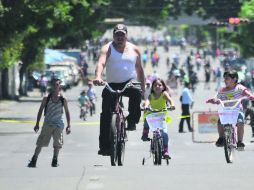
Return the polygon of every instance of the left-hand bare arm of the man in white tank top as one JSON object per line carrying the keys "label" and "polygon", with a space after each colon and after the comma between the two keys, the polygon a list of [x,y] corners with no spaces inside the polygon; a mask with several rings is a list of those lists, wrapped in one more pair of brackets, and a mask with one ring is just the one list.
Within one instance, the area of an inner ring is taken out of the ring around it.
{"label": "left-hand bare arm of the man in white tank top", "polygon": [[95,85],[99,85],[103,82],[102,73],[106,66],[106,62],[107,62],[107,58],[109,57],[109,54],[110,52],[109,52],[109,43],[108,43],[101,48],[99,60],[95,69],[95,80],[94,80]]}

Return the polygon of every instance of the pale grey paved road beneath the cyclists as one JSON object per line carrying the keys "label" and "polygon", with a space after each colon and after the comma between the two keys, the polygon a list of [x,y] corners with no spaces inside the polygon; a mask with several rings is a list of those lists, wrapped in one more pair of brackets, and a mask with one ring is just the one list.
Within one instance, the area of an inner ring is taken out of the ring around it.
{"label": "pale grey paved road beneath the cyclists", "polygon": [[[179,51],[171,48],[170,54]],[[165,53],[159,48],[161,65],[157,72],[163,77],[166,68]],[[185,55],[181,54],[182,60]],[[146,68],[146,74],[153,72]],[[200,72],[202,77],[203,73]],[[244,152],[236,152],[235,162],[226,164],[223,149],[214,143],[193,143],[191,133],[178,133],[180,116],[179,92],[174,95],[176,111],[171,112],[173,122],[169,126],[172,160],[167,166],[154,166],[152,159],[142,166],[142,158],[149,156],[149,145],[140,140],[142,123],[137,131],[129,132],[125,164],[111,167],[109,157],[97,155],[98,121],[101,100],[97,102],[97,114],[83,122],[79,119],[77,96],[84,87],[78,86],[66,92],[70,100],[72,134],[64,135],[64,147],[59,155],[60,166],[52,168],[52,145],[44,148],[38,159],[37,168],[27,168],[38,134],[33,133],[40,97],[36,93],[21,102],[0,103],[0,188],[1,190],[81,190],[81,189],[182,189],[182,190],[250,190],[253,189],[254,145],[249,143],[250,127],[246,126]],[[198,85],[194,94],[192,111],[216,110],[204,104],[207,97],[214,95],[215,84],[204,90],[204,83]],[[102,88],[97,87],[98,94]],[[16,119],[19,122],[4,122],[2,119]],[[185,126],[186,127],[186,126]],[[185,128],[186,129],[186,128]],[[197,137],[198,135],[198,137]],[[215,140],[211,135],[209,140]],[[196,138],[206,140],[196,131]]]}

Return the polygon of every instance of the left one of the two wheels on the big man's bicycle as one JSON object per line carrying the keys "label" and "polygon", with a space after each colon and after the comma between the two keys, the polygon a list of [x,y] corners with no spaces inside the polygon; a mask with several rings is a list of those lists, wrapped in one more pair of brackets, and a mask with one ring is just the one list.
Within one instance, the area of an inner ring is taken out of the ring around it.
{"label": "left one of the two wheels on the big man's bicycle", "polygon": [[115,166],[117,162],[117,115],[112,115],[112,121],[110,126],[110,147],[111,147],[111,154],[110,154],[110,161],[111,166]]}

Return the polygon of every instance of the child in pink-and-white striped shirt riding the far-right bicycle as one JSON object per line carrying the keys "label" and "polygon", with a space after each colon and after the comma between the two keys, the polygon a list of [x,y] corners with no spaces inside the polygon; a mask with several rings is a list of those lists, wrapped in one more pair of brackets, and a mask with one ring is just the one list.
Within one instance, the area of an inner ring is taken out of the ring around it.
{"label": "child in pink-and-white striped shirt riding the far-right bicycle", "polygon": [[[249,90],[238,83],[238,74],[236,71],[226,71],[223,74],[225,87],[222,87],[219,89],[219,92],[215,98],[208,99],[207,103],[212,104],[220,104],[219,100],[237,100],[244,96],[248,97],[251,100],[254,100],[254,95],[252,95]],[[244,148],[245,145],[243,143],[243,134],[244,134],[244,113],[242,109],[242,105],[239,105],[240,113],[237,119],[237,136],[238,136],[238,142],[237,147],[238,148]],[[224,144],[223,135],[224,135],[224,129],[223,126],[220,123],[220,120],[218,120],[218,133],[219,138],[216,142],[216,146],[221,147]]]}

